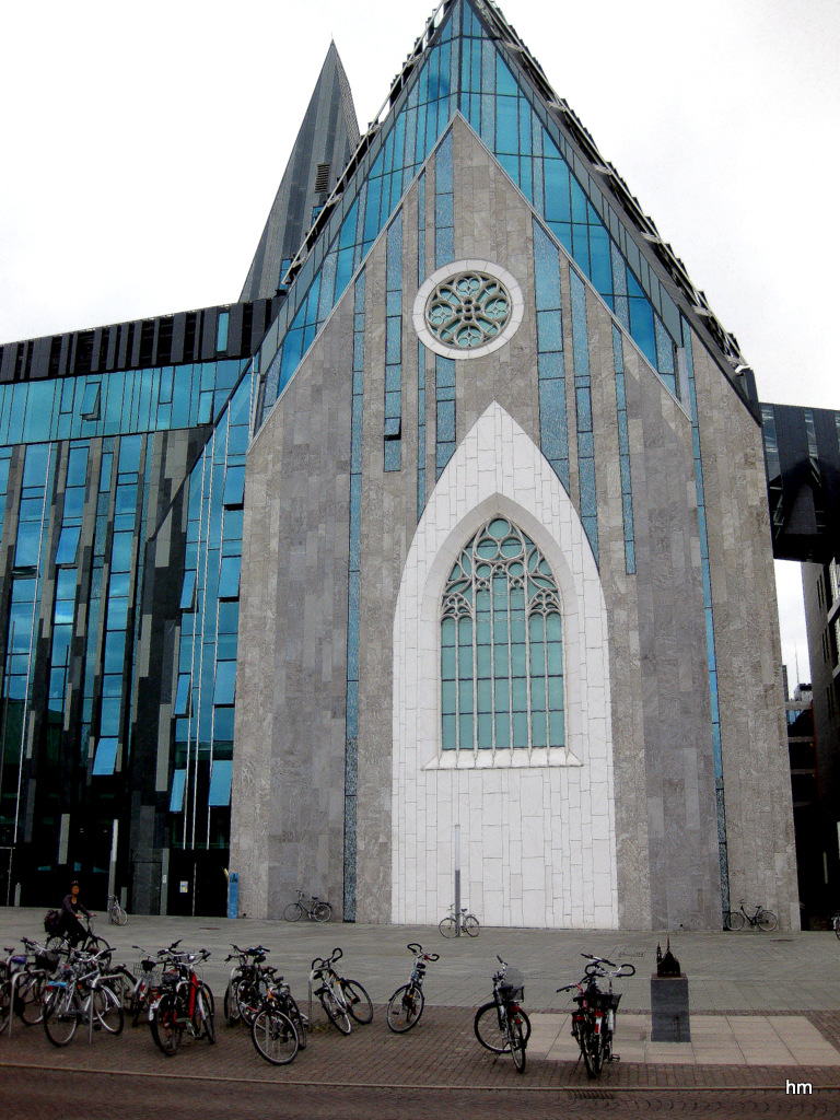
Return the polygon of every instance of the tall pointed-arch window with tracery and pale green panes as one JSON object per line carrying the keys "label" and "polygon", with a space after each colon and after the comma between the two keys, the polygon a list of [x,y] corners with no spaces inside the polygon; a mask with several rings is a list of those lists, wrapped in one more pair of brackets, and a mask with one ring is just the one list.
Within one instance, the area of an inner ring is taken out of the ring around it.
{"label": "tall pointed-arch window with tracery and pale green panes", "polygon": [[441,746],[566,746],[557,581],[534,542],[488,521],[449,573],[440,610]]}

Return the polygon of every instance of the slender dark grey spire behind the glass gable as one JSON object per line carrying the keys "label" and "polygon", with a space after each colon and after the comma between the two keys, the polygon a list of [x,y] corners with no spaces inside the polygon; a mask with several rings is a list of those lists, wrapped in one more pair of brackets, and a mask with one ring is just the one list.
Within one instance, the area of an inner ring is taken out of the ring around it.
{"label": "slender dark grey spire behind the glass gable", "polygon": [[240,300],[270,299],[360,141],[353,94],[335,41],[324,60],[304,123],[256,246]]}

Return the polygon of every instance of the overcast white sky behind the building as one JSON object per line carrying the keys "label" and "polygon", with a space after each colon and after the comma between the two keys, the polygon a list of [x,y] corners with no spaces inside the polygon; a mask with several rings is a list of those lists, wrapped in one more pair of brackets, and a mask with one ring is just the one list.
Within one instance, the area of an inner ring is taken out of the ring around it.
{"label": "overcast white sky behind the building", "polygon": [[[362,130],[432,0],[56,0],[0,15],[0,343],[234,301],[334,37]],[[762,400],[840,408],[836,0],[506,0]],[[800,569],[776,566],[808,679]]]}

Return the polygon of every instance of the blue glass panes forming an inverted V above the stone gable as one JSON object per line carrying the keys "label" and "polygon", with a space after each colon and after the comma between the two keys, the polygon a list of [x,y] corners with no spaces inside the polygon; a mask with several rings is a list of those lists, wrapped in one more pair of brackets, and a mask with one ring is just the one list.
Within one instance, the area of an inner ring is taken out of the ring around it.
{"label": "blue glass panes forming an inverted V above the stone gable", "polygon": [[[676,305],[628,239],[505,49],[467,0],[452,4],[347,183],[319,242],[295,278],[263,351],[258,426],[293,375],[354,271],[399,206],[454,112],[460,111],[572,255],[625,329],[678,394]],[[436,267],[455,255],[451,136],[436,160]]]}

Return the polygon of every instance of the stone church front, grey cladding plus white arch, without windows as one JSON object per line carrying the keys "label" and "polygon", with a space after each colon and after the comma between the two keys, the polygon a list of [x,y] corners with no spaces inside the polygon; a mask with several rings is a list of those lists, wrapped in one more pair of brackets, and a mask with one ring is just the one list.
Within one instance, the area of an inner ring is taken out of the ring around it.
{"label": "stone church front, grey cladding plus white arch, without windows", "polygon": [[[419,180],[400,207],[399,470],[385,469],[383,459],[388,231],[363,263],[352,828],[344,809],[353,283],[249,452],[232,838],[232,866],[243,869],[240,907],[278,915],[298,886],[336,906],[348,897],[349,881],[360,921],[436,922],[452,898],[457,824],[464,900],[489,924],[718,926],[700,492],[729,881],[736,899],[760,896],[796,927],[758,426],[693,336],[698,491],[685,385],[678,399],[620,333],[635,548],[635,571],[628,572],[618,324],[584,280],[596,554],[581,521],[575,436],[584,405],[576,385],[580,353],[571,344],[581,345],[572,286],[581,278],[560,250],[567,487],[541,451],[533,211],[457,115],[451,142],[452,260],[495,262],[511,273],[524,301],[522,321],[495,352],[456,362],[456,450],[436,477],[438,366],[430,349],[418,349],[412,323],[421,279],[446,263],[435,255],[439,155],[432,153],[423,169],[424,212]],[[418,465],[426,469],[420,508]],[[494,514],[520,525],[544,551],[563,606],[567,754],[533,752],[528,765],[515,750],[506,763],[483,766],[480,752],[477,759],[459,759],[440,749],[440,590],[460,548]]]}

